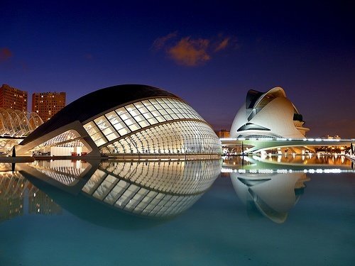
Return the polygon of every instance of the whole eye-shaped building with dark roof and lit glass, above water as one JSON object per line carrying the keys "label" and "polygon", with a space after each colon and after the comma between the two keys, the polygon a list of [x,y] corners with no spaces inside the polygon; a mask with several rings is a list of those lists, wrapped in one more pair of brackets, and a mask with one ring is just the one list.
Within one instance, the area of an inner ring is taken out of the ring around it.
{"label": "whole eye-shaped building with dark roof and lit glass, above water", "polygon": [[178,96],[145,85],[100,89],[73,101],[16,147],[17,155],[219,155],[209,124]]}

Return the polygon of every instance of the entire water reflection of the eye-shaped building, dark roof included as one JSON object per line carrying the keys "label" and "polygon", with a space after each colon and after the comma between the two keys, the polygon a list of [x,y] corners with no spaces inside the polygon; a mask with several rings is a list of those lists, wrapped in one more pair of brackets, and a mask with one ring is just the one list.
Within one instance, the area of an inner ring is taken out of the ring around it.
{"label": "entire water reflection of the eye-shaped building, dark roof included", "polygon": [[16,167],[72,214],[129,229],[153,226],[189,209],[217,179],[222,161],[58,160]]}

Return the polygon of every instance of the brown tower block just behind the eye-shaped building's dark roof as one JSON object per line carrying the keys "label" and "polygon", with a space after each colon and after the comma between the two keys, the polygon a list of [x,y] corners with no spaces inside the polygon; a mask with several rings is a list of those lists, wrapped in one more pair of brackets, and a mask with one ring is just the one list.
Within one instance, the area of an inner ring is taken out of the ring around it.
{"label": "brown tower block just behind the eye-shaped building's dark roof", "polygon": [[35,92],[32,94],[32,110],[42,120],[48,121],[65,106],[65,92]]}

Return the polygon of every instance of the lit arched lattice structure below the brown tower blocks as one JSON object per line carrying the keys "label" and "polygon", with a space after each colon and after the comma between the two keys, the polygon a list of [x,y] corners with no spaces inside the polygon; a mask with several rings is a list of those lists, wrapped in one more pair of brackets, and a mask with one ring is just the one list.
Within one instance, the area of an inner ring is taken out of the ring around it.
{"label": "lit arched lattice structure below the brown tower blocks", "polygon": [[23,137],[42,124],[42,119],[35,112],[0,107],[0,135]]}

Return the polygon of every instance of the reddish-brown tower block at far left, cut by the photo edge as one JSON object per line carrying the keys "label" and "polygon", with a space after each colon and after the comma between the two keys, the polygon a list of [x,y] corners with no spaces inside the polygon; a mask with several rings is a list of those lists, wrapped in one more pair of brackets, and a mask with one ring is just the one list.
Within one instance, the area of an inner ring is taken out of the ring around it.
{"label": "reddish-brown tower block at far left, cut by the photo edge", "polygon": [[27,111],[28,93],[3,84],[0,87],[0,107]]}

